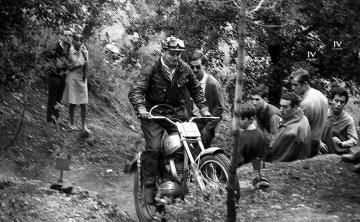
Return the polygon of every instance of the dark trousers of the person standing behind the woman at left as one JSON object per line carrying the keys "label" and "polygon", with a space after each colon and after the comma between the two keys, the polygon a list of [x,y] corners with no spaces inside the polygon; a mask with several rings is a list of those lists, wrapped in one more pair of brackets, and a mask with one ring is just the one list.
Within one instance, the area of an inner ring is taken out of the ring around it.
{"label": "dark trousers of the person standing behind the woman at left", "polygon": [[65,89],[65,78],[49,77],[48,81],[48,103],[46,120],[55,123],[54,118],[59,119],[59,110],[55,108],[56,103],[61,102],[62,94]]}

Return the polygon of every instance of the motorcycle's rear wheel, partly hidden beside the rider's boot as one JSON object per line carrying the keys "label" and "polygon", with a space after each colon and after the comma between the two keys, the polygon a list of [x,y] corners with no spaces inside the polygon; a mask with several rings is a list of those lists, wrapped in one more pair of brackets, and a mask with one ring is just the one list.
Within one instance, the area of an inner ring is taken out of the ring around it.
{"label": "motorcycle's rear wheel, partly hidden beside the rider's boot", "polygon": [[156,213],[156,207],[154,205],[148,205],[144,202],[143,198],[143,185],[140,181],[140,171],[137,169],[134,174],[134,200],[135,210],[140,222],[153,221],[153,217]]}

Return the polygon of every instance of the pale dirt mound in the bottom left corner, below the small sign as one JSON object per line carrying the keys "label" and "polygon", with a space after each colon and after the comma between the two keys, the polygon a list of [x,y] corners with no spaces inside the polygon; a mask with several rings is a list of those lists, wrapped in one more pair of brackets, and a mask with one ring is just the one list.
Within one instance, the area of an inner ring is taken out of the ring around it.
{"label": "pale dirt mound in the bottom left corner, below the small sign", "polygon": [[1,177],[0,221],[130,221],[118,206],[79,187],[68,195],[43,181]]}

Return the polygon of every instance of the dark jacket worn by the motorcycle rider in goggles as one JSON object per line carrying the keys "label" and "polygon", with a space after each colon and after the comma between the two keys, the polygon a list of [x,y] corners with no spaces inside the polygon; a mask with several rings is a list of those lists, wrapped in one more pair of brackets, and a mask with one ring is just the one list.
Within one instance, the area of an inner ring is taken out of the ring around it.
{"label": "dark jacket worn by the motorcycle rider in goggles", "polygon": [[186,90],[200,109],[207,109],[200,83],[190,67],[180,60],[173,80],[170,81],[158,59],[155,64],[146,67],[134,81],[129,91],[129,100],[136,111],[139,107],[149,110],[154,105],[167,104],[186,112]]}

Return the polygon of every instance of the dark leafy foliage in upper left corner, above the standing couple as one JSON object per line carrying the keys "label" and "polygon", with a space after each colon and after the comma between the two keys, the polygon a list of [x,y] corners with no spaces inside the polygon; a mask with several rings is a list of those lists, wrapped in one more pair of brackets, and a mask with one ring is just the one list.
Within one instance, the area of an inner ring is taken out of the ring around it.
{"label": "dark leafy foliage in upper left corner, above the standing couple", "polygon": [[[18,88],[47,71],[46,50],[53,47],[65,26],[88,39],[117,9],[112,0],[5,1],[0,4],[0,84]],[[31,74],[33,73],[33,74]]]}

